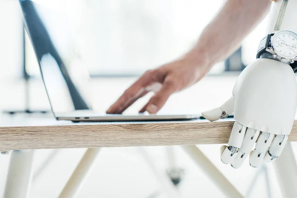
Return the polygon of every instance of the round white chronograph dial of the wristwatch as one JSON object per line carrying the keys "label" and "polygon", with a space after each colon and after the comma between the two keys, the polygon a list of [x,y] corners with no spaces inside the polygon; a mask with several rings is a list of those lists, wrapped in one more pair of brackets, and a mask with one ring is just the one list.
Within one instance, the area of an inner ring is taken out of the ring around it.
{"label": "round white chronograph dial of the wristwatch", "polygon": [[291,31],[280,31],[273,35],[271,41],[274,51],[285,58],[297,56],[297,34]]}

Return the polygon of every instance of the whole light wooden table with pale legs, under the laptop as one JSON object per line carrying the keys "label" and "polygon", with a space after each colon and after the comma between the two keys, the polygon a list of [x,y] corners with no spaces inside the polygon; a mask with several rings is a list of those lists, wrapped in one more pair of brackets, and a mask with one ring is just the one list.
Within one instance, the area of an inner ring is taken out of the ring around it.
{"label": "whole light wooden table with pale legs, under the laptop", "polygon": [[[2,116],[0,150],[15,150],[10,158],[5,196],[19,198],[29,192],[34,149],[89,148],[59,196],[59,198],[69,198],[75,197],[79,191],[100,147],[184,145],[183,148],[225,195],[239,198],[242,195],[238,190],[196,146],[193,146],[226,144],[233,123],[233,119],[216,122],[197,119],[174,122],[72,123],[56,121],[50,114],[30,117]],[[297,141],[297,121],[289,140]],[[148,164],[150,163],[151,160],[148,159]],[[152,168],[154,169],[155,167]],[[155,174],[162,179],[164,188],[171,197],[177,197],[175,188],[167,176],[158,172]]]}

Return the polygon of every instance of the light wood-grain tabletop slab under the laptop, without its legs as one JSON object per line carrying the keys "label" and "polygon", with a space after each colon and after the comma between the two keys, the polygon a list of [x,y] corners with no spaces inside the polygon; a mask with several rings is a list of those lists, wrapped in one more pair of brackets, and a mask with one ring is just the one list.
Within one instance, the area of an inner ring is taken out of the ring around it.
{"label": "light wood-grain tabletop slab under the laptop, without its legs", "polygon": [[[226,144],[234,122],[71,123],[26,118],[11,126],[5,123],[0,125],[0,150]],[[297,121],[289,141],[297,141]]]}

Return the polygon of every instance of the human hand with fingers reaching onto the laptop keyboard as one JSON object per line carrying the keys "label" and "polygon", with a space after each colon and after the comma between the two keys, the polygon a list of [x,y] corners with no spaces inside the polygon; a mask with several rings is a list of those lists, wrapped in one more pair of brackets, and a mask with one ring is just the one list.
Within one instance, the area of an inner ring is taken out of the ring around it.
{"label": "human hand with fingers reaching onto the laptop keyboard", "polygon": [[106,113],[120,114],[149,92],[155,94],[139,112],[156,113],[173,93],[195,84],[207,73],[210,64],[206,62],[206,57],[202,53],[199,54],[196,57],[186,55],[179,60],[146,71]]}

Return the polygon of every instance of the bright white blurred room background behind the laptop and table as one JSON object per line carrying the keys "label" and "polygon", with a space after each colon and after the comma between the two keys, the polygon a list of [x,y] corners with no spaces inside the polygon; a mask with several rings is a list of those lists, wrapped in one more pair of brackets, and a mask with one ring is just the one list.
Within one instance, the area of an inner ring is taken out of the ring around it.
{"label": "bright white blurred room background behind the laptop and table", "polygon": [[[47,5],[41,13],[57,49],[71,46],[67,54],[90,73],[94,109],[112,104],[143,72],[172,61],[187,52],[214,17],[224,0],[35,0]],[[50,17],[49,17],[50,16]],[[214,65],[209,74],[191,88],[174,94],[162,112],[199,113],[230,97],[240,71],[255,59],[258,42],[264,37],[266,18],[228,59]],[[17,0],[0,0],[0,110],[25,108],[24,74],[30,77],[30,108],[49,110],[39,66],[28,35],[24,34]],[[217,34],[220,34],[219,32]],[[24,42],[25,41],[25,42]],[[25,51],[26,72],[23,68]],[[75,67],[74,67],[75,69]],[[138,112],[151,95],[140,99],[127,112]],[[180,102],[183,101],[183,102]],[[178,104],[178,105],[176,105]],[[33,116],[33,115],[32,115]],[[51,115],[49,115],[51,116]],[[293,144],[296,148],[296,145]],[[240,190],[251,184],[250,198],[281,198],[271,164],[253,169],[248,163],[235,170],[220,161],[220,145],[199,148]],[[166,147],[148,147],[160,170],[166,171]],[[221,198],[223,194],[194,162],[176,146],[177,164],[185,170],[179,190],[184,198]],[[85,149],[59,150],[47,169],[35,178],[30,198],[57,197]],[[53,150],[38,150],[34,170]],[[4,188],[9,155],[0,155],[0,190]],[[265,177],[265,170],[270,171]],[[260,176],[253,180],[257,171]],[[267,189],[266,182],[269,181]],[[271,193],[271,195],[270,195]],[[269,196],[270,195],[270,196]],[[164,198],[138,148],[104,148],[79,198]]]}

